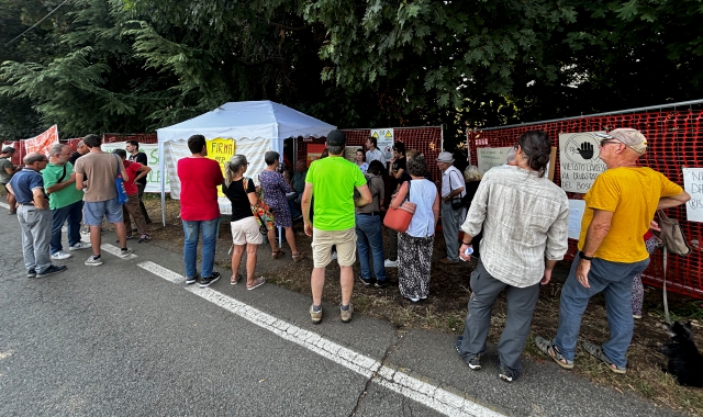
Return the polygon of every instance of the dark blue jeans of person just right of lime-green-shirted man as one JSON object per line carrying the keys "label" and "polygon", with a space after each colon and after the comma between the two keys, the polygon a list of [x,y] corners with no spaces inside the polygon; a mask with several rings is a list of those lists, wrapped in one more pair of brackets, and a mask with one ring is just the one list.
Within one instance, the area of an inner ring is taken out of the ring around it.
{"label": "dark blue jeans of person just right of lime-green-shirted man", "polygon": [[356,250],[359,252],[361,278],[371,278],[369,267],[369,247],[373,258],[373,273],[377,281],[386,281],[386,268],[383,267],[383,234],[381,232],[381,217],[356,215]]}

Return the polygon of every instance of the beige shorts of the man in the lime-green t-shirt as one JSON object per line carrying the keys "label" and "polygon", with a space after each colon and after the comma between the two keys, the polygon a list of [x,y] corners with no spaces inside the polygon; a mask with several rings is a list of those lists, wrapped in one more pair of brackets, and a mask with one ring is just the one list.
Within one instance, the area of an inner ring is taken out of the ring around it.
{"label": "beige shorts of the man in the lime-green t-shirt", "polygon": [[312,261],[315,268],[325,268],[332,262],[332,245],[337,246],[339,267],[356,262],[356,230],[321,230],[312,228]]}

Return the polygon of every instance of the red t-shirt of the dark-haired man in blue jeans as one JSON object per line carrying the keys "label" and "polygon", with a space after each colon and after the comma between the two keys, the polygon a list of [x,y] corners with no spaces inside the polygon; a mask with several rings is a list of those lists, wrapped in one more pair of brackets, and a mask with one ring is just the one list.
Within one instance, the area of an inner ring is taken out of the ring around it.
{"label": "red t-shirt of the dark-haired man in blue jeans", "polygon": [[182,158],[178,161],[180,180],[180,218],[186,222],[220,217],[217,185],[224,177],[220,164],[208,158]]}

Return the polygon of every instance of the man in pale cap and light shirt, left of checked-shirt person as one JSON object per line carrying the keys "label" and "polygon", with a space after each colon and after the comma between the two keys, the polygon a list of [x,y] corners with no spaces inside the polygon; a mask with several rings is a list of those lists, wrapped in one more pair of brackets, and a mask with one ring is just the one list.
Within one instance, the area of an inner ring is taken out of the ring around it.
{"label": "man in pale cap and light shirt, left of checked-shirt person", "polygon": [[451,164],[450,153],[439,153],[437,168],[442,171],[442,232],[447,245],[447,257],[439,259],[444,264],[459,263],[459,226],[466,214],[461,198],[466,195],[464,174]]}

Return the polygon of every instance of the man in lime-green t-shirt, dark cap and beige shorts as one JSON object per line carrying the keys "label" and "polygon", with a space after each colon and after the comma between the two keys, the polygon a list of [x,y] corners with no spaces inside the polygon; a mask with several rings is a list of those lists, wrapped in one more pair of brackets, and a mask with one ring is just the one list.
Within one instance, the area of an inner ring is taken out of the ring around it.
{"label": "man in lime-green t-shirt, dark cap and beige shorts", "polygon": [[[310,166],[305,177],[302,208],[305,234],[312,236],[312,258],[314,268],[310,278],[312,286],[312,323],[322,322],[322,289],[325,283],[325,267],[332,261],[332,246],[337,247],[342,305],[339,315],[343,323],[352,320],[354,307],[350,304],[354,289],[356,261],[356,230],[354,207],[371,202],[371,193],[359,167],[342,156],[346,137],[342,131],[327,134],[326,146],[330,157],[319,159]],[[354,190],[360,196],[354,199]],[[314,196],[314,224],[310,222],[310,206]]]}

